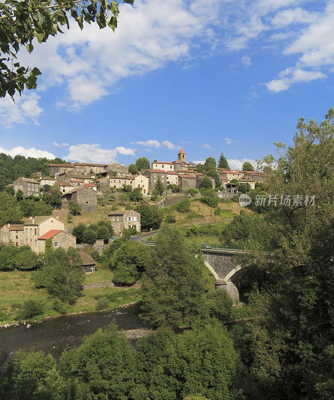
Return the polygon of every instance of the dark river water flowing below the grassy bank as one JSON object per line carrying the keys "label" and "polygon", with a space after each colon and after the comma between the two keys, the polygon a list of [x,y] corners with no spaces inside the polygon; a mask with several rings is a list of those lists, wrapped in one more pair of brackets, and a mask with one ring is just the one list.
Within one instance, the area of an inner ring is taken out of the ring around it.
{"label": "dark river water flowing below the grassy bank", "polygon": [[[138,305],[134,304],[107,312],[61,315],[40,323],[30,322],[30,328],[24,324],[0,328],[0,349],[6,348],[10,354],[19,349],[43,350],[58,359],[65,348],[78,346],[85,335],[113,321],[119,330],[144,327],[139,313]],[[135,340],[131,342],[134,344]]]}

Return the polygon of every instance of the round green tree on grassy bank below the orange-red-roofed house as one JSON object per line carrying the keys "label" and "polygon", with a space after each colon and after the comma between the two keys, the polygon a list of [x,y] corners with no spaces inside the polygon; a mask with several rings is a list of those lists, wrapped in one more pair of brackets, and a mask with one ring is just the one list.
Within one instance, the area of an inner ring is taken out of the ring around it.
{"label": "round green tree on grassy bank below the orange-red-roofed house", "polygon": [[73,303],[79,297],[85,279],[81,264],[80,255],[73,247],[67,251],[59,247],[45,255],[44,265],[34,279],[43,282],[51,296]]}

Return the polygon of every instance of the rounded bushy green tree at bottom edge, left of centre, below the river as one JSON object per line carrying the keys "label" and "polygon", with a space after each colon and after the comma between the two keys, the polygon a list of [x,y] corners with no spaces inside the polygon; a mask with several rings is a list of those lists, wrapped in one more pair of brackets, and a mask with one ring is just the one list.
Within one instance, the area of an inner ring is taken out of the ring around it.
{"label": "rounded bushy green tree at bottom edge, left of centre, below the river", "polygon": [[135,352],[114,323],[84,337],[80,346],[65,350],[59,364],[65,381],[77,382],[75,398],[133,398],[130,393],[137,375]]}

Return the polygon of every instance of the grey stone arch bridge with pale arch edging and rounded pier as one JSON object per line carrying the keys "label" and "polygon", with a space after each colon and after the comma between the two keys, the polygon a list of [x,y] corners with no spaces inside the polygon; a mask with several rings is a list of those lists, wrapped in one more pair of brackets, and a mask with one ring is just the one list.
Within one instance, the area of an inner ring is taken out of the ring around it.
{"label": "grey stone arch bridge with pale arch edging and rounded pier", "polygon": [[238,301],[238,280],[242,265],[237,265],[232,257],[235,254],[245,254],[245,251],[228,248],[202,248],[201,251],[204,255],[205,265],[217,279],[216,289],[226,289],[230,296]]}

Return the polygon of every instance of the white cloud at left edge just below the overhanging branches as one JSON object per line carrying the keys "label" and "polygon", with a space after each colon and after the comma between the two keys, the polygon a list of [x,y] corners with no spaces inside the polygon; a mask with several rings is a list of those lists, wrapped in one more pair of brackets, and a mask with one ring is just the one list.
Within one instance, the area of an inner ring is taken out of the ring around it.
{"label": "white cloud at left edge just below the overhanging branches", "polygon": [[40,96],[33,91],[26,91],[22,96],[16,95],[15,102],[9,95],[0,98],[0,123],[11,127],[13,123],[34,123],[39,125],[38,117],[43,108],[38,105]]}

